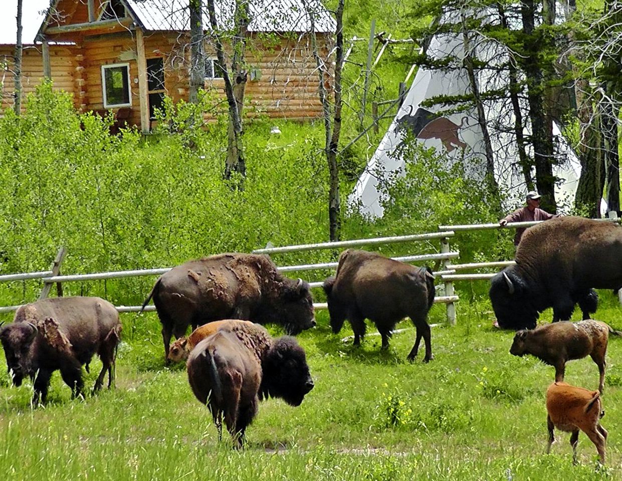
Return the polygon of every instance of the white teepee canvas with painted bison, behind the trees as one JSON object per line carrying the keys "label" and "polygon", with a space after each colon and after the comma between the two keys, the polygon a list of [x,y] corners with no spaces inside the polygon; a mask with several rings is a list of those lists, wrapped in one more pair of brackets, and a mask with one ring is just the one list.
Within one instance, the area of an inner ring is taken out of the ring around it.
{"label": "white teepee canvas with painted bison, behind the trees", "polygon": [[[435,96],[470,94],[468,76],[460,68],[463,52],[462,35],[443,34],[432,39],[428,48],[429,55],[436,58],[450,56],[455,59],[455,66],[443,71],[419,68],[404,103],[348,197],[350,206],[356,206],[361,213],[370,216],[383,215],[379,181],[395,173],[404,175],[405,162],[396,153],[396,148],[403,142],[406,129],[424,147],[434,147],[437,152],[445,153],[448,162],[463,162],[466,175],[476,180],[484,178],[486,157],[483,135],[475,112],[456,112],[456,108],[441,108],[438,105],[422,107],[425,100]],[[485,42],[480,42],[478,55],[480,58],[488,58],[491,63],[504,60],[503,53],[499,53],[496,44],[486,46]],[[501,81],[506,82],[506,79],[493,77],[489,71],[480,70],[478,73],[480,91],[498,88]],[[508,133],[514,124],[513,109],[509,101],[504,103],[495,100],[485,103],[485,110],[495,153],[494,176],[501,189],[509,195],[506,207],[512,208],[524,201],[527,190],[518,165],[516,141]],[[525,108],[524,117],[527,117],[526,112]],[[561,180],[555,189],[555,199],[558,203],[561,201],[570,205],[577,190],[580,163],[557,126],[554,126],[554,135],[557,140],[557,167],[554,175]]]}

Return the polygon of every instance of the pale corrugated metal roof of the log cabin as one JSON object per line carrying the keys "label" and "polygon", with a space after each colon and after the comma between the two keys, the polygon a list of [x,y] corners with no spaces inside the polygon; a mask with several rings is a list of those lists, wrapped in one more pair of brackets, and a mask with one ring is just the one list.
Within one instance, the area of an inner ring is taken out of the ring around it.
{"label": "pale corrugated metal roof of the log cabin", "polygon": [[[188,0],[125,0],[131,14],[145,30],[190,30]],[[205,0],[202,0],[205,4]],[[309,32],[311,22],[302,0],[249,0],[250,32]],[[315,32],[335,31],[335,19],[320,0],[305,0],[315,12]],[[233,27],[235,0],[215,0],[219,27]],[[203,9],[203,29],[210,30],[207,8]]]}

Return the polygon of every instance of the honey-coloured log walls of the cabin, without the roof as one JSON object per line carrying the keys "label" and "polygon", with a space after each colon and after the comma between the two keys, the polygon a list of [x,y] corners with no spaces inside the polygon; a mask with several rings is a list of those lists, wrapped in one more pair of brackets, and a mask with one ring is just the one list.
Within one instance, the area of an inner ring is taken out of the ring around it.
{"label": "honey-coloured log walls of the cabin, without the roof", "polygon": [[[101,67],[127,63],[131,91],[131,114],[128,120],[140,126],[136,32],[121,27],[115,32],[88,33],[93,34],[75,32],[76,45],[50,45],[53,88],[72,93],[75,107],[79,111],[104,110]],[[181,99],[187,100],[190,81],[187,35],[178,32],[146,32],[144,44],[147,60],[163,59],[165,93],[175,103]],[[318,34],[318,44],[325,46],[327,37]],[[216,57],[210,45],[206,44],[205,51],[208,56]],[[320,55],[326,57],[327,52],[327,48],[323,47]],[[13,55],[14,45],[0,45],[0,61],[6,59],[0,65],[3,110],[13,103]],[[254,35],[246,51],[246,62],[252,75],[249,75],[246,84],[245,117],[305,120],[322,114],[322,104],[318,97],[318,73],[309,35],[288,37],[271,34],[269,42]],[[22,75],[25,95],[34,91],[43,78],[40,45],[24,47]],[[205,88],[213,89],[216,96],[225,99],[223,80],[206,80]],[[25,103],[22,105],[25,107]],[[222,102],[215,111],[206,114],[206,120],[225,112],[226,102]]]}

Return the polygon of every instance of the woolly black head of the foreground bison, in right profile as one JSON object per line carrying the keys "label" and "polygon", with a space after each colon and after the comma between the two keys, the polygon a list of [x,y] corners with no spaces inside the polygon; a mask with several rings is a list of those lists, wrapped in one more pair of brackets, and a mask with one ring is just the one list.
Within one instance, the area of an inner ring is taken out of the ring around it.
{"label": "woolly black head of the foreground bison, in right profile", "polygon": [[281,398],[291,406],[299,406],[305,394],[313,389],[305,351],[294,337],[283,336],[272,342],[261,369],[260,392],[264,398]]}

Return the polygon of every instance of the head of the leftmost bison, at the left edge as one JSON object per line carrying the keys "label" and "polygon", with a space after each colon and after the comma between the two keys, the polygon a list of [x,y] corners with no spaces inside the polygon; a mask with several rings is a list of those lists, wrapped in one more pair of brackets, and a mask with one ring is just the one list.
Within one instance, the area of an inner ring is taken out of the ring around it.
{"label": "head of the leftmost bison, at the left edge", "polygon": [[37,332],[37,326],[32,323],[13,323],[0,330],[6,365],[16,386],[21,386],[24,376],[34,373],[30,347]]}

